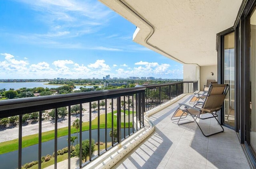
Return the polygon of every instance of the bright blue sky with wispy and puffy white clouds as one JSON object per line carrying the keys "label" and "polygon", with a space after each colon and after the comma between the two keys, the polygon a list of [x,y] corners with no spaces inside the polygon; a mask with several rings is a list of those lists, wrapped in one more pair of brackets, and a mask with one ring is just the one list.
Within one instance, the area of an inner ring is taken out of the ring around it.
{"label": "bright blue sky with wispy and puffy white clouds", "polygon": [[135,29],[96,0],[2,0],[0,79],[182,79],[182,64],[132,41]]}

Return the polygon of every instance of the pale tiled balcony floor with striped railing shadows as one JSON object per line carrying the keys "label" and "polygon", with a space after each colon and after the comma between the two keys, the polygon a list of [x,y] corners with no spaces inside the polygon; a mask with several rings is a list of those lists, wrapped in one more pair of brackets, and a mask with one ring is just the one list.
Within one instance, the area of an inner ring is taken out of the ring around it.
{"label": "pale tiled balcony floor with striped railing shadows", "polygon": [[[188,102],[185,96],[178,102]],[[155,132],[129,155],[117,163],[116,169],[247,169],[248,164],[234,130],[204,137],[196,123],[177,125],[171,120],[178,108],[174,103],[150,117]],[[200,120],[205,132],[218,131],[211,118]],[[209,123],[211,126],[209,127]]]}

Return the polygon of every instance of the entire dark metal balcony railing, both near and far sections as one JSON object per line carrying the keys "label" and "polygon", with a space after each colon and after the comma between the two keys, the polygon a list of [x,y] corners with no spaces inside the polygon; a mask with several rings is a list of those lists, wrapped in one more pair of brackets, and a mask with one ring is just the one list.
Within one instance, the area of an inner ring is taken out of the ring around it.
{"label": "entire dark metal balcony railing, both near and far sections", "polygon": [[[68,138],[68,168],[70,168],[70,159],[71,159],[71,108],[74,105],[79,105],[79,136],[78,143],[80,150],[82,149],[82,140],[83,140],[83,122],[82,119],[84,116],[88,116],[88,133],[86,134],[89,140],[89,153],[88,161],[84,162],[82,151],[79,153],[79,167],[81,168],[90,161],[96,159],[115,145],[121,143],[124,139],[134,134],[136,131],[144,127],[144,112],[148,111],[176,96],[184,93],[184,86],[189,86],[186,88],[186,92],[193,92],[197,90],[197,82],[177,82],[177,83],[168,83],[161,85],[144,85],[135,88],[122,88],[116,90],[101,90],[94,92],[80,92],[73,94],[62,94],[54,96],[40,96],[32,98],[20,98],[20,99],[11,99],[11,100],[2,100],[0,101],[0,118],[8,118],[11,116],[18,116],[18,163],[14,168],[21,168],[24,163],[28,161],[22,160],[26,155],[22,155],[24,150],[24,144],[22,144],[22,116],[24,114],[38,112],[38,152],[36,152],[36,159],[38,160],[38,168],[42,166],[41,157],[42,155],[42,114],[44,111],[54,110],[54,168],[57,168],[57,156],[58,156],[58,110],[62,107],[67,107],[68,109],[68,130],[66,136]],[[102,100],[105,102],[104,106],[100,110],[100,103]],[[94,102],[96,102],[97,107],[95,108]],[[109,106],[108,106],[109,105]],[[83,108],[85,106],[87,114]],[[96,109],[92,111],[92,109]],[[96,118],[92,119],[92,115],[96,114]],[[56,118],[57,117],[57,118]],[[94,120],[95,123],[92,123]],[[85,125],[85,124],[84,124]],[[116,128],[116,135],[114,134]],[[96,139],[98,142],[96,145],[96,153],[92,152],[93,149],[93,139],[92,132],[96,130]],[[102,132],[100,132],[103,130]],[[110,134],[109,132],[112,132]],[[73,132],[74,133],[74,132]],[[111,135],[111,138],[108,138],[108,135]],[[100,142],[104,140],[104,148],[100,147]],[[13,161],[13,159],[12,159]],[[6,161],[8,163],[8,161]],[[8,167],[10,168],[10,167]]]}

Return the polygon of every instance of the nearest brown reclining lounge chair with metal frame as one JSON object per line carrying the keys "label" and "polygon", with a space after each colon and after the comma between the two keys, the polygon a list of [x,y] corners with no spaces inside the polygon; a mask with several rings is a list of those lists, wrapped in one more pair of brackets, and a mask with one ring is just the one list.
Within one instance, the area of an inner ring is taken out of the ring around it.
{"label": "nearest brown reclining lounge chair with metal frame", "polygon": [[[196,124],[200,128],[202,134],[206,137],[212,136],[214,134],[218,134],[220,132],[224,132],[224,128],[221,126],[220,122],[218,122],[216,117],[218,117],[218,111],[222,108],[222,105],[223,105],[223,102],[224,102],[224,99],[226,97],[228,90],[229,90],[229,85],[227,85],[227,84],[225,84],[225,85],[218,85],[218,84],[210,85],[208,94],[205,98],[205,102],[202,103],[201,108],[198,108],[195,106],[192,107],[190,105],[179,103],[180,107],[178,109],[179,109],[179,111],[180,110],[182,111],[182,114],[180,115],[180,118],[178,120],[178,125],[186,124],[186,123],[190,123],[190,122],[196,122]],[[204,118],[202,117],[202,115],[208,114],[208,113],[210,114],[210,116],[204,117]],[[180,123],[180,119],[182,119],[182,117],[187,116],[187,115],[192,116],[192,118],[194,120]],[[206,135],[202,131],[199,123],[196,121],[197,118],[202,119],[202,120],[208,119],[208,118],[215,118],[215,120],[218,122],[218,125],[220,125],[222,130],[219,132],[215,132],[213,134]]]}

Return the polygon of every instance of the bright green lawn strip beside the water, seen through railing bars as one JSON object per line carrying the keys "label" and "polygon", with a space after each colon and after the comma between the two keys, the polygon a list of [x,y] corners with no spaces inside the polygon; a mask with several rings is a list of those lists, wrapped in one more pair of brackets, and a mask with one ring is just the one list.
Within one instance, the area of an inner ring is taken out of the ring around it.
{"label": "bright green lawn strip beside the water, seen through railing bars", "polygon": [[[122,110],[124,112],[124,110]],[[116,111],[114,111],[114,114]],[[128,110],[126,110],[128,114]],[[130,112],[131,114],[131,112]],[[114,115],[114,127],[117,126],[117,121],[115,120],[116,116]],[[111,113],[107,114],[107,128],[112,127],[112,118]],[[124,128],[124,123],[121,123],[121,127]],[[128,128],[128,123],[126,122],[126,127]],[[130,127],[132,127],[132,122],[130,122]],[[98,117],[92,120],[92,129],[98,128]],[[105,114],[100,115],[100,128],[105,128]],[[82,131],[89,130],[89,122],[82,123]],[[79,131],[79,129],[78,129]],[[76,129],[71,126],[71,134],[76,133]],[[58,129],[58,137],[68,135],[68,127]],[[42,142],[53,140],[54,139],[54,130],[43,132],[42,133]],[[38,143],[38,134],[33,134],[29,136],[22,137],[22,148],[28,147]],[[0,143],[0,154],[8,153],[10,151],[18,150],[18,139],[4,141]]]}

